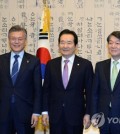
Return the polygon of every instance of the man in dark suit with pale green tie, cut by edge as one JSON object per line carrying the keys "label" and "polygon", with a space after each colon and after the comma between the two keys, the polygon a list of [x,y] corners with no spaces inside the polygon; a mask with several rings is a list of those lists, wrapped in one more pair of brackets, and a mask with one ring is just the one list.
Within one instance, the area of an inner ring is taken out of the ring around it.
{"label": "man in dark suit with pale green tie, cut by edge", "polygon": [[112,32],[107,42],[111,59],[96,64],[92,115],[104,114],[98,123],[101,134],[120,134],[120,31]]}

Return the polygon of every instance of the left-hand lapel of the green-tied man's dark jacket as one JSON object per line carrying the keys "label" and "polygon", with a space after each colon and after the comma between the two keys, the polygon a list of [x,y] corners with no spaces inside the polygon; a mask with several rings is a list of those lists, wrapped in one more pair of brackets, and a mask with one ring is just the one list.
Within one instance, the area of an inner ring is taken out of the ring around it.
{"label": "left-hand lapel of the green-tied man's dark jacket", "polygon": [[106,78],[106,82],[107,82],[107,85],[108,85],[108,89],[110,89],[111,91],[111,82],[110,82],[110,65],[111,64],[111,60],[107,60],[105,62],[105,65],[104,65],[104,74],[105,74],[105,78]]}

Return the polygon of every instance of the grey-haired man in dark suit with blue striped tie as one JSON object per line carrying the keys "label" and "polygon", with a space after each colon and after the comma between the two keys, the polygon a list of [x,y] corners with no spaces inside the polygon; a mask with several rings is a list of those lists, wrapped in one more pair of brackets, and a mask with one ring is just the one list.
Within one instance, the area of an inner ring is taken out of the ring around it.
{"label": "grey-haired man in dark suit with blue striped tie", "polygon": [[11,52],[0,56],[0,134],[34,134],[41,113],[39,59],[24,51],[24,28],[11,27],[8,39]]}

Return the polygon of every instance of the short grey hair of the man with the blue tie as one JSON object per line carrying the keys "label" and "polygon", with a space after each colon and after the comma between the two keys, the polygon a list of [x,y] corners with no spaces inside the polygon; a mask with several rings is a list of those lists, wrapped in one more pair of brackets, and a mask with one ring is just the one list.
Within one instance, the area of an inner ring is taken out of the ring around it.
{"label": "short grey hair of the man with the blue tie", "polygon": [[10,33],[12,32],[24,32],[25,33],[25,38],[27,38],[27,31],[25,28],[21,27],[20,25],[15,25],[12,26],[8,32],[8,37],[10,36]]}

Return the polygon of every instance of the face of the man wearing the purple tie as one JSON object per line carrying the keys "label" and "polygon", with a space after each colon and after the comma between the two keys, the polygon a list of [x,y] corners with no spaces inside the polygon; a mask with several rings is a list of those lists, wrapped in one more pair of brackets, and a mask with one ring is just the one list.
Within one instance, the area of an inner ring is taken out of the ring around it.
{"label": "face of the man wearing the purple tie", "polygon": [[71,57],[76,50],[74,37],[71,34],[63,34],[60,37],[59,51],[65,58]]}

